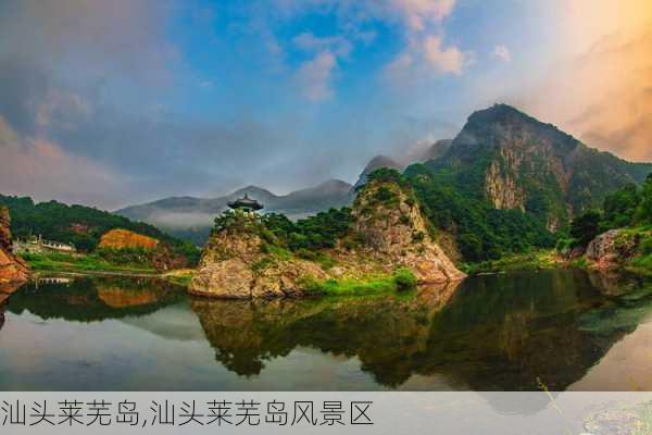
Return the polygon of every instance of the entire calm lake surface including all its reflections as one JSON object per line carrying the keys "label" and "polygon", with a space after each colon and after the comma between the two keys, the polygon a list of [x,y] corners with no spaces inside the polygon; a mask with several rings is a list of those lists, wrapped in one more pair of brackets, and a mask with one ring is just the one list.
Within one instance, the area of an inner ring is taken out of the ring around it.
{"label": "entire calm lake surface including all its reflections", "polygon": [[254,303],[79,278],[0,311],[0,390],[652,390],[652,288],[579,271]]}

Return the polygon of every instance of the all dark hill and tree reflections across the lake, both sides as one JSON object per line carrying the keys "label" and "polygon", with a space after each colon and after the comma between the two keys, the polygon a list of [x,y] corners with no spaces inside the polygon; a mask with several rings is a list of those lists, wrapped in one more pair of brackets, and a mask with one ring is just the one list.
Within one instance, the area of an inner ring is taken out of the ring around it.
{"label": "all dark hill and tree reflections across the lake, both sides", "polygon": [[[242,385],[272,360],[284,363],[294,349],[310,348],[334,357],[333,365],[358,359],[360,369],[387,388],[413,385],[406,382],[422,375],[443,378],[455,389],[537,390],[540,380],[563,390],[652,314],[651,293],[644,283],[581,271],[474,277],[394,295],[269,301],[188,297],[162,281],[82,278],[23,286],[1,306],[0,312],[10,314],[0,316],[0,327],[24,312],[80,323],[124,319],[155,331],[163,339],[161,355],[175,352],[175,340],[185,337],[177,332],[188,328],[193,339],[205,337],[216,363],[240,375]],[[175,318],[168,319],[172,312]],[[129,348],[125,363],[146,353]],[[215,366],[202,353],[193,358]]]}

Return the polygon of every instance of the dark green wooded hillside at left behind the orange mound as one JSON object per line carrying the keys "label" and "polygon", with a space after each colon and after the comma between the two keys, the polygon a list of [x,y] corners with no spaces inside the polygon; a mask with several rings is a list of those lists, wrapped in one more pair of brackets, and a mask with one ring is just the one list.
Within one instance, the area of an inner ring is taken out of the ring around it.
{"label": "dark green wooded hillside at left behind the orange mound", "polygon": [[124,228],[161,240],[191,263],[199,260],[199,250],[142,222],[133,222],[106,211],[84,206],[66,206],[58,201],[35,203],[32,198],[0,195],[0,206],[9,208],[14,237],[27,239],[41,235],[46,239],[74,245],[82,252],[92,252],[100,237],[110,229]]}

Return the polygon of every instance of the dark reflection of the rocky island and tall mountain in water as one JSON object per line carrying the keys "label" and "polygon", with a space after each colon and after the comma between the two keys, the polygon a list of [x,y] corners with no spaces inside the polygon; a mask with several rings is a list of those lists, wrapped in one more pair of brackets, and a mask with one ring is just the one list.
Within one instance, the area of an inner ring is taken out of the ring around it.
{"label": "dark reflection of the rocky island and tall mountain in water", "polygon": [[597,325],[650,307],[605,299],[582,272],[467,279],[460,288],[368,299],[233,302],[193,300],[216,360],[241,375],[298,346],[358,357],[375,381],[398,387],[414,374],[443,374],[456,388],[565,389],[639,319]]}

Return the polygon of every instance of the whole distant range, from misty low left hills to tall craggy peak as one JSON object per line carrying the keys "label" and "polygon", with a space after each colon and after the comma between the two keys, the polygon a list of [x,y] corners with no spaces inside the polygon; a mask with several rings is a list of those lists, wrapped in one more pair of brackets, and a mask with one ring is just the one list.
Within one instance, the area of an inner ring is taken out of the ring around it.
{"label": "whole distant range, from misty low left hills to tall craggy peak", "polygon": [[[474,112],[453,139],[435,141],[413,159],[438,174],[436,183],[455,186],[464,196],[489,201],[496,209],[521,210],[544,222],[551,232],[567,225],[574,214],[600,204],[609,192],[628,183],[642,183],[652,172],[652,163],[631,163],[589,148],[506,104]],[[206,240],[214,217],[227,202],[244,194],[262,202],[263,212],[301,219],[352,203],[376,169],[403,172],[405,165],[399,161],[374,157],[353,186],[330,179],[283,196],[248,186],[218,198],[172,197],[115,213],[199,245]]]}

